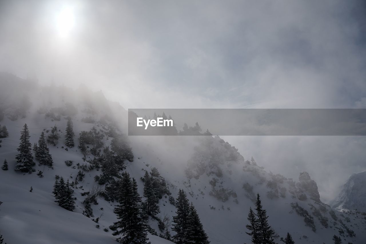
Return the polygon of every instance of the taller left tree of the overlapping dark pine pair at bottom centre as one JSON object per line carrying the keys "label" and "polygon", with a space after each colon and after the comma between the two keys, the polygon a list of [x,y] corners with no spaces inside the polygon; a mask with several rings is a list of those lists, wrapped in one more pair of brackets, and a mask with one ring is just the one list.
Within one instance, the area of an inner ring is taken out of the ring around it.
{"label": "taller left tree of the overlapping dark pine pair at bottom centre", "polygon": [[179,189],[178,198],[175,203],[177,215],[173,216],[173,228],[172,230],[176,234],[172,237],[174,243],[185,244],[187,241],[187,224],[189,214],[189,202],[186,193],[183,189]]}

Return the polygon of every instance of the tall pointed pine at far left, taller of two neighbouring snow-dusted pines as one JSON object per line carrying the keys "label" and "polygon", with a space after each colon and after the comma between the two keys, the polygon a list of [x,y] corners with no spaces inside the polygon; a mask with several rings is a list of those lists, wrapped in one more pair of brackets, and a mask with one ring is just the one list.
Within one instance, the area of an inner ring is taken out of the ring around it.
{"label": "tall pointed pine at far left, taller of two neighbouring snow-dusted pines", "polygon": [[36,163],[33,162],[33,156],[31,153],[32,145],[29,142],[29,130],[27,124],[24,125],[22,132],[20,133],[20,143],[18,147],[19,154],[16,155],[16,171],[31,172],[33,171],[33,166]]}

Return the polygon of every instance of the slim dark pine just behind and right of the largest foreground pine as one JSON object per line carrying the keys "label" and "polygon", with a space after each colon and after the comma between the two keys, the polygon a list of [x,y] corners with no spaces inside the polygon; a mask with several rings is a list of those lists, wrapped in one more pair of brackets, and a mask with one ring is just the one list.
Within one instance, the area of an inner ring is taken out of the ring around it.
{"label": "slim dark pine just behind and right of the largest foreground pine", "polygon": [[145,197],[146,200],[143,202],[142,206],[146,214],[155,216],[160,212],[160,208],[157,205],[159,200],[156,196],[156,189],[153,187],[152,178],[147,171],[145,171],[144,180],[145,185],[143,187],[143,197]]}

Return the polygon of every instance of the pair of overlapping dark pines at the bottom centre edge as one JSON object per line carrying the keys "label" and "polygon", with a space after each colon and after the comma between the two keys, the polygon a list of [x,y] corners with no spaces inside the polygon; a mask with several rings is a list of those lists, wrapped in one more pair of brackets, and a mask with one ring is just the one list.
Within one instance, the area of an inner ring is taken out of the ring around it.
{"label": "pair of overlapping dark pines at the bottom centre edge", "polygon": [[189,204],[186,193],[179,189],[178,198],[175,203],[176,216],[173,216],[172,230],[176,234],[172,240],[176,244],[209,244],[208,236],[193,203]]}

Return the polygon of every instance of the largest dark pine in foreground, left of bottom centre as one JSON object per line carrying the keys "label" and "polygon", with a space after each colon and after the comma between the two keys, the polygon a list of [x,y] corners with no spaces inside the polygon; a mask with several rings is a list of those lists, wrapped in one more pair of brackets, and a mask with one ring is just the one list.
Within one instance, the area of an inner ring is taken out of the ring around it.
{"label": "largest dark pine in foreground, left of bottom centre", "polygon": [[138,194],[135,179],[130,178],[130,174],[124,171],[122,178],[118,181],[117,202],[119,203],[114,213],[118,221],[111,226],[115,229],[113,236],[123,234],[120,239],[123,244],[145,244],[146,223],[141,218],[141,197]]}

